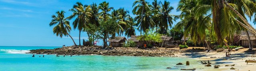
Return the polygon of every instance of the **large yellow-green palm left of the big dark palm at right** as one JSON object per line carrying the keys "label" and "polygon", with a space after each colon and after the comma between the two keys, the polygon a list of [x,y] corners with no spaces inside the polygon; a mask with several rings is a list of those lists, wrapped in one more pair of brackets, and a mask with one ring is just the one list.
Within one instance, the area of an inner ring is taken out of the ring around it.
{"label": "large yellow-green palm left of the big dark palm at right", "polygon": [[[184,36],[190,34],[190,39],[194,43],[206,42],[206,29],[211,24],[210,15],[195,15],[197,1],[195,0],[180,0],[177,11],[181,11],[181,21],[177,23],[177,29],[184,29]],[[208,42],[208,50],[211,50]]]}

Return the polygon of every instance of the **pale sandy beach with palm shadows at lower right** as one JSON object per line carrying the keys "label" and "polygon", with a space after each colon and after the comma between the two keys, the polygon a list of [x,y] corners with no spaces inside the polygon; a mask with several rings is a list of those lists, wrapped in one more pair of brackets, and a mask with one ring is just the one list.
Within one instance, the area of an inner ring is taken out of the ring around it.
{"label": "pale sandy beach with palm shadows at lower right", "polygon": [[[191,48],[198,48],[198,47],[190,47]],[[187,50],[188,50],[187,49]],[[227,49],[222,52],[186,52],[178,54],[179,57],[187,57],[187,58],[194,58],[202,61],[209,60],[212,64],[212,67],[209,69],[205,69],[206,71],[256,71],[256,63],[248,63],[246,64],[246,59],[254,60],[256,57],[255,52],[245,52],[248,48],[240,49],[238,51],[231,51],[229,54],[230,57],[226,57]],[[256,49],[254,49],[256,50]],[[214,65],[220,65],[219,68],[214,69]],[[234,65],[234,66],[225,66],[225,65]],[[202,64],[202,66],[204,66]],[[234,67],[235,69],[231,70],[230,68]]]}

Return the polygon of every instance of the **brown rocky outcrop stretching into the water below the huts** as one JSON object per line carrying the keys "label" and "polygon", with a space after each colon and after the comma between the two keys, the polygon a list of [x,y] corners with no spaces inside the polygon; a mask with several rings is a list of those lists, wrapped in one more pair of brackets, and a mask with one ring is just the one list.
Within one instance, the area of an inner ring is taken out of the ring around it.
{"label": "brown rocky outcrop stretching into the water below the huts", "polygon": [[103,55],[103,56],[157,56],[177,57],[174,54],[180,50],[157,48],[124,48],[124,47],[98,47],[98,46],[68,46],[55,49],[30,50],[30,54],[58,54],[58,55]]}

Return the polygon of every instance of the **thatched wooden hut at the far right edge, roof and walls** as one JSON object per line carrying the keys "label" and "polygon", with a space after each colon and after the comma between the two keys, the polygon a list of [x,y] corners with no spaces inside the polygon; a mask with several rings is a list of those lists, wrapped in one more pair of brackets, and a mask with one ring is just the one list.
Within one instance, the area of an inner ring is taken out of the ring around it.
{"label": "thatched wooden hut at the far right edge, roof and walls", "polygon": [[[249,47],[249,41],[248,41],[248,37],[246,34],[247,34],[246,31],[238,31],[238,35],[240,35],[240,46]],[[256,46],[255,36],[252,33],[250,33],[249,31],[248,31],[248,34],[250,36],[252,46],[255,47]]]}

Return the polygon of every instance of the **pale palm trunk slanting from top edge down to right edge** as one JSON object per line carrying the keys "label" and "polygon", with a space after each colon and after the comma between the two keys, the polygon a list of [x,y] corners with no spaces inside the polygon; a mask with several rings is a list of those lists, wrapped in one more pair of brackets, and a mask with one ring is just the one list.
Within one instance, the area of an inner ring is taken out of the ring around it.
{"label": "pale palm trunk slanting from top edge down to right edge", "polygon": [[234,13],[236,13],[238,15],[238,17],[240,17],[240,19],[242,19],[242,21],[244,21],[244,23],[249,27],[249,29],[251,29],[252,31],[256,32],[256,30],[252,27],[252,25],[250,25],[250,23],[248,23],[248,21],[246,19],[244,19],[244,17],[237,12],[234,8],[232,8],[225,0],[222,0],[226,6],[228,6],[228,8],[230,8],[230,10],[232,10]]}

